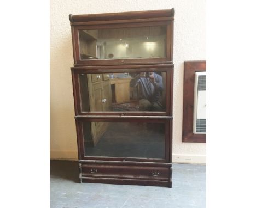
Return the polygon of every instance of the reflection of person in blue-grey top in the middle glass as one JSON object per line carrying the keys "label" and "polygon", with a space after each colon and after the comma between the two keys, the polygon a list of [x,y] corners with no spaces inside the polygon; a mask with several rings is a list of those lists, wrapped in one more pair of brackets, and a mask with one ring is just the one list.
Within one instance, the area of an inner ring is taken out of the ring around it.
{"label": "reflection of person in blue-grey top in the middle glass", "polygon": [[163,111],[161,91],[164,89],[162,77],[155,72],[141,72],[130,82],[139,88],[139,111]]}

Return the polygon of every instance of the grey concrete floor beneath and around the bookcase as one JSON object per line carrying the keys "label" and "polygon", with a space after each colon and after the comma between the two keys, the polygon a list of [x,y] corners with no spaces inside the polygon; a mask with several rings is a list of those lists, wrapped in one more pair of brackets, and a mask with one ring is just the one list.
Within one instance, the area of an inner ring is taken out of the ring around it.
{"label": "grey concrete floor beneath and around the bookcase", "polygon": [[77,161],[50,161],[51,208],[206,207],[206,166],[173,164],[173,188],[78,183]]}

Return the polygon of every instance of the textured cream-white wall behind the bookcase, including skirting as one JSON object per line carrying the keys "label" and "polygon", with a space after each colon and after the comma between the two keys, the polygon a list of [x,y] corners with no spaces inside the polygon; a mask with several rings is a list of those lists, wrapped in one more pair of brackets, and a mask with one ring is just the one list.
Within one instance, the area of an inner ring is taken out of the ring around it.
{"label": "textured cream-white wall behind the bookcase, including skirting", "polygon": [[183,68],[185,60],[206,59],[205,0],[52,0],[50,23],[50,157],[77,159],[73,66],[68,15],[175,8],[173,162],[205,162],[206,144],[182,143]]}

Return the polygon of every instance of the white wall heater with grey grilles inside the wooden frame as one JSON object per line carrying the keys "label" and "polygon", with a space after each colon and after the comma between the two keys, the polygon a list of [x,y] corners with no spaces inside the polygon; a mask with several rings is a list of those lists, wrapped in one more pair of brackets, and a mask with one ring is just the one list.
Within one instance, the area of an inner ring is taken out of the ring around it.
{"label": "white wall heater with grey grilles inside the wooden frame", "polygon": [[193,133],[206,133],[206,71],[195,72]]}

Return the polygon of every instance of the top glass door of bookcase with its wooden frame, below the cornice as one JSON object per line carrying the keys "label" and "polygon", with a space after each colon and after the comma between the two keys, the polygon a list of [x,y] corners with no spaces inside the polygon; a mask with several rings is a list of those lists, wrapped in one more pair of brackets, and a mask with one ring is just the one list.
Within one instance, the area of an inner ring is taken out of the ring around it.
{"label": "top glass door of bookcase with its wooden frame, below the cornice", "polygon": [[75,66],[172,61],[171,22],[74,26]]}

